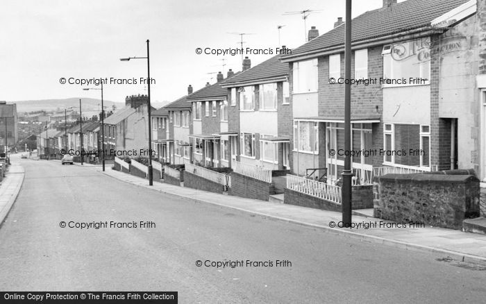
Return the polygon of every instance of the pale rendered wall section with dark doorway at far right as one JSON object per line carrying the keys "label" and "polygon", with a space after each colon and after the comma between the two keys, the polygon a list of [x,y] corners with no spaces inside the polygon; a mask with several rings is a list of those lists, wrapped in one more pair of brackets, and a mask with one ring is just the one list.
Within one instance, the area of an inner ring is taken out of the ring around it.
{"label": "pale rendered wall section with dark doorway at far right", "polygon": [[[456,168],[480,172],[480,101],[478,15],[434,35],[430,46],[430,158],[438,169],[451,169],[451,124],[455,124]],[[481,173],[483,177],[485,173]]]}

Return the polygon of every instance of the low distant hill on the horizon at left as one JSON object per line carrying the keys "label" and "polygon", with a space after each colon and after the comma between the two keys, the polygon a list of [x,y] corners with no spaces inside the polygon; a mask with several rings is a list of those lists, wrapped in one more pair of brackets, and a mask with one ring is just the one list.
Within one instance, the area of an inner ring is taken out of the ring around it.
{"label": "low distant hill on the horizon at left", "polygon": [[[39,110],[46,111],[56,111],[64,110],[65,108],[74,107],[75,110],[79,108],[79,98],[69,98],[69,99],[42,99],[42,100],[29,100],[29,101],[11,101],[12,103],[17,103],[17,113],[19,112],[33,112]],[[92,98],[82,98],[82,109],[83,111],[98,111],[101,108],[101,99]],[[105,105],[107,111],[112,110],[112,106],[115,105],[117,109],[123,108],[124,103],[119,103],[115,101],[103,100],[103,105]]]}

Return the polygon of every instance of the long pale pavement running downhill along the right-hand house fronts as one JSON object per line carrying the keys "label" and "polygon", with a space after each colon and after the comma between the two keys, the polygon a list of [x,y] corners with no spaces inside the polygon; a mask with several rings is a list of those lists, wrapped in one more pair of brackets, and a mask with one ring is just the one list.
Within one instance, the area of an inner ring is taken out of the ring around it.
{"label": "long pale pavement running downhill along the right-hand house fronts", "polygon": [[[387,223],[393,222],[359,215],[353,215],[353,223],[360,225],[359,228],[331,227],[338,225],[342,220],[340,212],[244,199],[237,196],[216,194],[165,183],[154,182],[153,186],[149,186],[148,180],[144,178],[125,174],[110,167],[106,168],[104,174],[123,180],[126,183],[153,189],[164,194],[180,196],[199,203],[219,205],[239,210],[240,212],[249,212],[268,219],[319,228],[328,233],[357,237],[366,242],[387,244],[414,251],[425,251],[441,256],[446,254],[461,262],[486,263],[486,235],[464,233],[460,230],[432,226],[423,228],[380,228],[380,223],[387,225]],[[365,225],[369,228],[364,228]]]}

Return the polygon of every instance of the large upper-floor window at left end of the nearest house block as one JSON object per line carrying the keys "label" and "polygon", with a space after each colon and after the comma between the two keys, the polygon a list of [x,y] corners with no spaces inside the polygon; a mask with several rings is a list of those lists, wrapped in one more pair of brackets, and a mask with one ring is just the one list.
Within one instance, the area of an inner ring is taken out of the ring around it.
{"label": "large upper-floor window at left end of the nearest house block", "polygon": [[317,59],[294,62],[294,93],[317,92]]}

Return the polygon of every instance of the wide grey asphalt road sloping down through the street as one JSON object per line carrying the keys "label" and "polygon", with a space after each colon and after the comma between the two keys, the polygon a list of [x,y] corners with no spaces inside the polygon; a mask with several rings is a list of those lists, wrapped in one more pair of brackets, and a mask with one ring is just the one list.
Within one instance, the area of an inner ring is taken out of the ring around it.
{"label": "wide grey asphalt road sloping down through the street", "polygon": [[[92,168],[22,164],[24,185],[0,228],[3,291],[176,291],[179,303],[486,301],[485,270],[164,196]],[[138,227],[81,230],[61,221]],[[244,267],[197,267],[198,260]]]}

